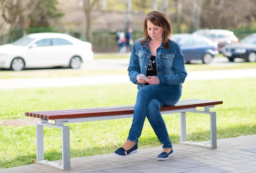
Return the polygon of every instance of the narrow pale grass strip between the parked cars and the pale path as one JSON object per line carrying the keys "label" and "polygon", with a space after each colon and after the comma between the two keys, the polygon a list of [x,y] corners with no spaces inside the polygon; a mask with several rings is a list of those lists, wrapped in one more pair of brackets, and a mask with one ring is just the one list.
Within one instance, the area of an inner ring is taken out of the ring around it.
{"label": "narrow pale grass strip between the parked cars and the pale path", "polygon": [[[237,62],[232,65],[186,64],[189,71],[256,69],[256,62]],[[128,74],[126,68],[121,70],[86,70],[86,69],[44,69],[23,71],[0,71],[0,79],[47,78],[47,77],[85,77],[101,74]]]}

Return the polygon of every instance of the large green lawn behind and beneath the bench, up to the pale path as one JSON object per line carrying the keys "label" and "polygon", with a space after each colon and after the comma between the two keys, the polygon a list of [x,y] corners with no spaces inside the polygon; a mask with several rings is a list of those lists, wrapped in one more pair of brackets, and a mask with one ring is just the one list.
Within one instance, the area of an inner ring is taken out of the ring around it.
{"label": "large green lawn behind and beneath the bench, up to the pale path", "polygon": [[[256,78],[187,81],[181,99],[223,100],[217,112],[217,138],[256,134]],[[29,119],[26,111],[93,108],[135,103],[136,85],[96,85],[0,91],[0,119]],[[179,114],[163,115],[173,144],[180,141]],[[32,118],[30,118],[32,119]],[[209,115],[187,113],[187,139],[210,139]],[[132,119],[82,122],[70,125],[71,157],[112,153],[128,136]],[[35,125],[0,125],[0,168],[32,164],[36,159]],[[44,128],[45,159],[61,159],[61,131]],[[145,121],[139,148],[160,147]]]}

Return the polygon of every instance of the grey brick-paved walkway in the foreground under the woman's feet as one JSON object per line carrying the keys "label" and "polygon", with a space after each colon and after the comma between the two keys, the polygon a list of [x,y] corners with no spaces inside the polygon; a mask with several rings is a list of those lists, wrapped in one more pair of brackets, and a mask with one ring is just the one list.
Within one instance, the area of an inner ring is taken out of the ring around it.
{"label": "grey brick-paved walkway in the foreground under the woman's feet", "polygon": [[74,158],[68,171],[30,164],[0,173],[256,173],[256,135],[218,139],[217,144],[217,149],[174,145],[174,156],[166,161],[156,159],[162,151],[156,147],[125,158],[113,153]]}

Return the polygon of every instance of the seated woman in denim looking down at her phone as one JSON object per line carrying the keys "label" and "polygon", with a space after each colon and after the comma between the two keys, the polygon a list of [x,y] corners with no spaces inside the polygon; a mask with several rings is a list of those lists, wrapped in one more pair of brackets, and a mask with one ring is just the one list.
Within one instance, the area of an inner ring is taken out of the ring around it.
{"label": "seated woman in denim looking down at her phone", "polygon": [[134,43],[128,67],[130,80],[139,89],[133,122],[125,144],[114,152],[117,156],[137,152],[145,117],[163,144],[163,152],[157,159],[166,160],[173,154],[160,108],[178,102],[187,73],[180,46],[169,39],[171,34],[170,21],[164,12],[153,10],[146,15],[145,38]]}

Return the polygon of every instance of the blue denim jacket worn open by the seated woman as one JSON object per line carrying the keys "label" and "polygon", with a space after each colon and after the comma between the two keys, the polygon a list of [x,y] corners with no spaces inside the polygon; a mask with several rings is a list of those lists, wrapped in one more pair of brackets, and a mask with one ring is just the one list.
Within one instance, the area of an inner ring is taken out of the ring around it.
{"label": "blue denim jacket worn open by the seated woman", "polygon": [[[130,80],[138,85],[138,89],[145,86],[145,84],[138,83],[136,77],[138,74],[144,74],[146,76],[148,63],[152,55],[147,44],[150,40],[143,45],[141,45],[139,40],[136,40],[133,45],[128,66]],[[156,77],[159,79],[159,85],[182,85],[187,76],[184,57],[180,50],[180,45],[172,40],[169,40],[169,44],[169,48],[167,49],[163,47],[163,43],[157,48]]]}

